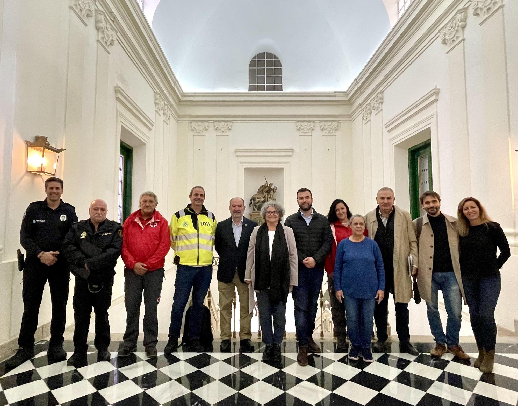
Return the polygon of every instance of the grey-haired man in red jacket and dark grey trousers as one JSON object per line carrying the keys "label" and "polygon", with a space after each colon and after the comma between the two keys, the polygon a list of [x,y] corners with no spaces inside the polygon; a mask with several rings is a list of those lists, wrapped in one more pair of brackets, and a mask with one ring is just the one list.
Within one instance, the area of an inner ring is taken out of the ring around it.
{"label": "grey-haired man in red jacket and dark grey trousers", "polygon": [[124,261],[124,305],[126,332],[119,357],[127,357],[137,349],[138,322],[142,292],[144,346],[148,357],[156,357],[159,322],[157,309],[164,278],[165,256],[170,248],[169,225],[156,211],[158,198],[153,192],[140,195],[139,207],[124,221],[122,228],[122,260]]}

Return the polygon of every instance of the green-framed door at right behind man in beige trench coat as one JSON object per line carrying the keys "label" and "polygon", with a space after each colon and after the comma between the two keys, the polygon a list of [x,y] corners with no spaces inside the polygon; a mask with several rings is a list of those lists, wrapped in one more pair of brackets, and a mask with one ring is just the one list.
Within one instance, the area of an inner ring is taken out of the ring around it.
{"label": "green-framed door at right behind man in beige trench coat", "polygon": [[433,190],[430,140],[408,149],[408,173],[410,178],[410,214],[414,219],[424,213],[419,200],[420,195],[427,190]]}

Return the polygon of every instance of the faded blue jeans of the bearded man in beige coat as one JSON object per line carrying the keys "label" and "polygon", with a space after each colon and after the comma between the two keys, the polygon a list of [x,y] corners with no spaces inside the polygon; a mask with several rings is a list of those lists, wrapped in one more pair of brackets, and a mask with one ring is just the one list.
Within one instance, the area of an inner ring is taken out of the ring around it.
{"label": "faded blue jeans of the bearded man in beige coat", "polygon": [[[442,330],[439,315],[439,290],[442,290],[444,306],[448,320],[446,335]],[[431,274],[431,302],[426,302],[428,323],[437,344],[458,344],[458,333],[461,331],[462,295],[454,272],[433,272]]]}

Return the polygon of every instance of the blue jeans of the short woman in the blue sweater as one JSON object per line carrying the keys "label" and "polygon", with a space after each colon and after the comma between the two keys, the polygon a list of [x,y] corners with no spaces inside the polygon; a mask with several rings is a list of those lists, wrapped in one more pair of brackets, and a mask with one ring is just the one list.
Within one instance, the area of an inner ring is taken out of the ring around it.
{"label": "blue jeans of the short woman in the blue sweater", "polygon": [[356,299],[345,295],[344,301],[347,312],[347,331],[351,344],[357,348],[370,348],[376,299]]}

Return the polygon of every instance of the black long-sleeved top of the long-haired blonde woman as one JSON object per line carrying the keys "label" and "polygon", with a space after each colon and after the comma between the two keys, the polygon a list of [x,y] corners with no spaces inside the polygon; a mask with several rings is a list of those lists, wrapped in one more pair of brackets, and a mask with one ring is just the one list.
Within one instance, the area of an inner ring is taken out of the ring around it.
{"label": "black long-sleeved top of the long-haired blonde woman", "polygon": [[468,276],[495,276],[511,256],[506,234],[497,222],[469,226],[468,235],[460,237],[460,246],[461,272]]}

